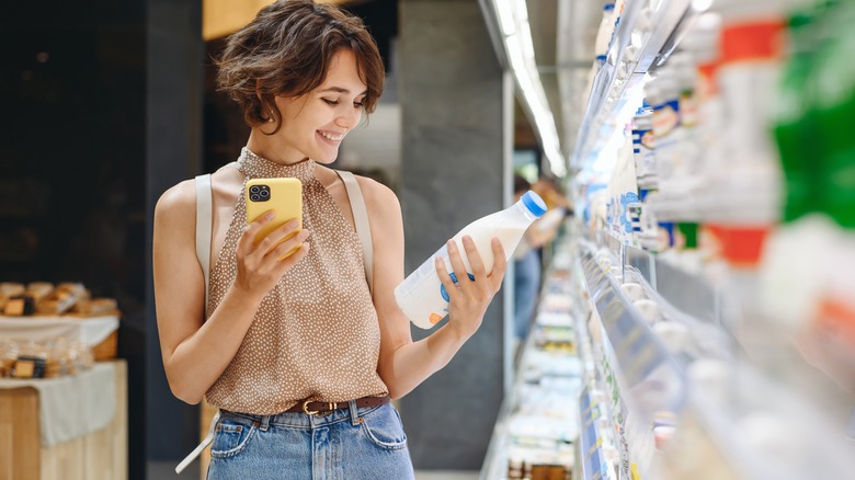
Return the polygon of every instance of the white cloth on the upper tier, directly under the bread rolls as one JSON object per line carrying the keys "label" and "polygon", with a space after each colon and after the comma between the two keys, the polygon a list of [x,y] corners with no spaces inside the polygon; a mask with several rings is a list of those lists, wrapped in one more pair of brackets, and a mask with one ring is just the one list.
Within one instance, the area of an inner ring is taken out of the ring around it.
{"label": "white cloth on the upper tier, directly under the bread rolls", "polygon": [[46,342],[62,336],[94,346],[118,328],[118,317],[0,317],[0,336]]}

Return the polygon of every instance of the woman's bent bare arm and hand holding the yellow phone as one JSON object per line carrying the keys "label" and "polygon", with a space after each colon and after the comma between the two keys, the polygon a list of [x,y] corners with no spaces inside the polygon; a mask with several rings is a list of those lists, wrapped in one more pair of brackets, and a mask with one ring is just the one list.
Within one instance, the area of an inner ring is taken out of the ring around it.
{"label": "woman's bent bare arm and hand holding the yellow phone", "polygon": [[269,221],[262,215],[244,230],[238,241],[237,278],[204,321],[205,281],[196,259],[194,182],[168,190],[155,207],[152,262],[160,350],[172,393],[187,403],[198,403],[219,378],[237,354],[261,300],[308,252],[308,244],[303,243],[297,252],[277,261],[306,239],[306,230],[270,250],[295,230],[294,224],[253,245],[255,233]]}

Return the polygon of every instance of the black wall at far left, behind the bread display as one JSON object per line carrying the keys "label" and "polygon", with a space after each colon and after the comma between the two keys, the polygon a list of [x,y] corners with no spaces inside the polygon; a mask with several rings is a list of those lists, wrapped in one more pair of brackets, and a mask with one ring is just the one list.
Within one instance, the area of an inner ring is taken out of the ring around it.
{"label": "black wall at far left, behind the bread display", "polygon": [[0,14],[0,282],[82,282],[118,300],[132,478],[146,454],[145,25],[145,0]]}

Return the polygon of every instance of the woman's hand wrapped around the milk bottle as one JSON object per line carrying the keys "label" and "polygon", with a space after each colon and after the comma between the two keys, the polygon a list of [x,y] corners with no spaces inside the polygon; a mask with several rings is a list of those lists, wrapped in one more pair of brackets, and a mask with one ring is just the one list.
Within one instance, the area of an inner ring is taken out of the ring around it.
{"label": "woman's hand wrapped around the milk bottle", "polygon": [[487,307],[490,306],[490,300],[502,286],[502,278],[504,278],[504,272],[508,267],[502,242],[498,238],[493,238],[490,243],[493,259],[495,259],[490,275],[487,275],[481,254],[478,253],[478,249],[469,236],[464,236],[463,244],[466,256],[469,259],[469,265],[472,267],[474,279],[466,272],[466,265],[460,256],[457,242],[454,240],[448,240],[446,247],[457,283],[452,281],[442,259],[437,258],[435,262],[436,273],[448,293],[448,328],[456,330],[465,339],[478,331]]}

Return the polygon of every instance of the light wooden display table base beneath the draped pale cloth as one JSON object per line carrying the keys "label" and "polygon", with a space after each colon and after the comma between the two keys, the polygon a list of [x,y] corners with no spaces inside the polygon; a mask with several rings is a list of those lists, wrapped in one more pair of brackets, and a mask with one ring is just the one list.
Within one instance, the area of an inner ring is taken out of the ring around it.
{"label": "light wooden display table base beneath the draped pale cloth", "polygon": [[39,399],[41,391],[0,388],[0,480],[127,479],[127,365],[122,359],[96,365],[115,375],[112,420],[106,427],[54,445],[45,445],[39,405],[46,399]]}

